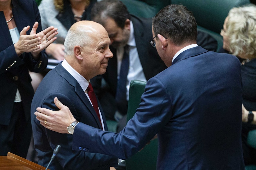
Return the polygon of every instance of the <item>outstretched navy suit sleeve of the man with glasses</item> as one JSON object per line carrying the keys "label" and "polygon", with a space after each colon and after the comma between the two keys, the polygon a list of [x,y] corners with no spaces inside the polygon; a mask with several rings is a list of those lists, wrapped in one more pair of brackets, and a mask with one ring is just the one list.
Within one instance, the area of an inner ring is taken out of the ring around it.
{"label": "outstretched navy suit sleeve of the man with glasses", "polygon": [[121,159],[127,159],[137,153],[172,116],[170,97],[157,78],[148,80],[141,101],[135,116],[118,134],[79,123],[73,135],[72,148],[108,154]]}

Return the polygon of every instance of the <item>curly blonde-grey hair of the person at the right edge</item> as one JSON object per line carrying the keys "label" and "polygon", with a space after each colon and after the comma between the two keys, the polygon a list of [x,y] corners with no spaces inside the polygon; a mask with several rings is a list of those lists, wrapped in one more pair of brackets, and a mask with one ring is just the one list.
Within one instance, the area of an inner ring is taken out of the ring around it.
{"label": "curly blonde-grey hair of the person at the right edge", "polygon": [[225,35],[233,55],[256,55],[256,6],[249,4],[230,9]]}

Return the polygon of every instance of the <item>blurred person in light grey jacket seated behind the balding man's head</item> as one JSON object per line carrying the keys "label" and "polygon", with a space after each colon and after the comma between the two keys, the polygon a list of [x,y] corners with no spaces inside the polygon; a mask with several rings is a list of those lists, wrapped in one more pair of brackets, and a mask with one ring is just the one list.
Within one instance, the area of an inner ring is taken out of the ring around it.
{"label": "blurred person in light grey jacket seated behind the balding man's head", "polygon": [[42,0],[39,5],[42,29],[58,28],[57,40],[45,51],[53,59],[64,59],[64,40],[69,28],[77,21],[91,20],[91,8],[97,0]]}

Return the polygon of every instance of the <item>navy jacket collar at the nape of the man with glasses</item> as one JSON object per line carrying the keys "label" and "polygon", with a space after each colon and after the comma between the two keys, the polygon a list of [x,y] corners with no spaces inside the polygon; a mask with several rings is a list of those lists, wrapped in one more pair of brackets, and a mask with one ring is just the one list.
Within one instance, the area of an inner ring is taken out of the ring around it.
{"label": "navy jacket collar at the nape of the man with glasses", "polygon": [[189,57],[193,57],[193,56],[197,56],[199,54],[203,54],[208,52],[208,50],[202,48],[201,46],[197,46],[197,47],[193,47],[193,48],[189,48],[185,51],[183,51],[181,54],[179,54],[173,61],[172,65],[177,63],[178,61],[181,61],[183,59],[189,58]]}

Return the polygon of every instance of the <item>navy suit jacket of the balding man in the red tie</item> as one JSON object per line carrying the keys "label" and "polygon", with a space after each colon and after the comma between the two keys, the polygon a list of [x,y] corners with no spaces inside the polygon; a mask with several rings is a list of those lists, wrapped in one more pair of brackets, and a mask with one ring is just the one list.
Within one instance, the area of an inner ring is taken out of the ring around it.
{"label": "navy suit jacket of the balding man in the red tie", "polygon": [[[44,77],[37,88],[31,104],[31,123],[34,146],[39,158],[38,164],[46,167],[55,147],[61,145],[61,149],[56,159],[49,166],[49,169],[97,169],[99,167],[109,169],[110,166],[117,166],[117,158],[98,153],[73,151],[73,135],[53,132],[40,124],[34,115],[36,108],[43,107],[59,110],[53,101],[55,97],[58,97],[59,101],[65,103],[70,108],[72,114],[79,122],[95,128],[101,128],[97,114],[83,89],[60,63]],[[102,113],[104,127],[108,130],[100,105],[99,109]]]}

